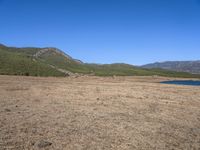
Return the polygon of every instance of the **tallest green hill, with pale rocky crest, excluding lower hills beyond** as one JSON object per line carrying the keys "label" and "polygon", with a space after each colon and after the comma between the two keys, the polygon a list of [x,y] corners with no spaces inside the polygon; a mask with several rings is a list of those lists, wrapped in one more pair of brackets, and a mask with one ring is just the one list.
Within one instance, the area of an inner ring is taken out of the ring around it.
{"label": "tallest green hill, with pale rocky crest, excluding lower hills beyond", "polygon": [[16,48],[0,45],[0,74],[64,76],[82,62],[57,48]]}

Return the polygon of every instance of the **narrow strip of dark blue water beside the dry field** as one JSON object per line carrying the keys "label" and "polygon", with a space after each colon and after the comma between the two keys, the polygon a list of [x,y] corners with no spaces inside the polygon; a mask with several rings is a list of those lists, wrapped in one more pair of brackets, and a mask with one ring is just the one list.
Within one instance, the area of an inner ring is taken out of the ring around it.
{"label": "narrow strip of dark blue water beside the dry field", "polygon": [[164,84],[176,84],[176,85],[191,85],[191,86],[200,86],[200,80],[171,80],[171,81],[163,81],[160,83]]}

